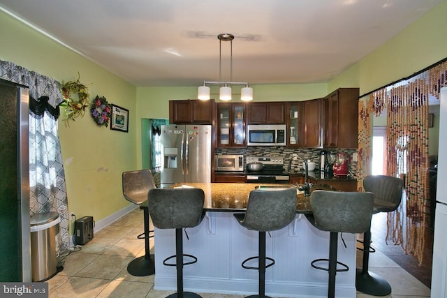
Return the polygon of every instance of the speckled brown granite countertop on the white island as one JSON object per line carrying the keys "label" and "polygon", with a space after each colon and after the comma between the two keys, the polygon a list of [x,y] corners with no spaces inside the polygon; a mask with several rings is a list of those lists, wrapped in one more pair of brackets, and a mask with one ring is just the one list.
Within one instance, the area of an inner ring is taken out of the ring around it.
{"label": "speckled brown granite countertop on the white island", "polygon": [[[175,184],[173,187],[194,187],[201,188],[205,193],[204,209],[206,211],[234,212],[245,211],[249,199],[250,191],[256,186],[272,186],[272,187],[295,187],[293,184],[245,184],[245,183],[182,183]],[[311,188],[312,191],[317,189],[325,191],[336,191],[332,186],[318,184]],[[312,213],[310,207],[310,197],[305,197],[304,193],[297,191],[297,213]]]}

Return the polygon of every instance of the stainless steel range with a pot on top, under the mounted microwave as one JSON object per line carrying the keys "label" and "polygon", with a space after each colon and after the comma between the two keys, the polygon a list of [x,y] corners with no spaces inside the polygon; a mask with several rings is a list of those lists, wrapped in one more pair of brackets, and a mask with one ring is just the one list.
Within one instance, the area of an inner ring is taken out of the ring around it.
{"label": "stainless steel range with a pot on top, under the mounted microwave", "polygon": [[284,171],[284,159],[279,156],[247,156],[247,163],[263,163],[260,171],[247,170],[247,183],[283,183],[289,181]]}

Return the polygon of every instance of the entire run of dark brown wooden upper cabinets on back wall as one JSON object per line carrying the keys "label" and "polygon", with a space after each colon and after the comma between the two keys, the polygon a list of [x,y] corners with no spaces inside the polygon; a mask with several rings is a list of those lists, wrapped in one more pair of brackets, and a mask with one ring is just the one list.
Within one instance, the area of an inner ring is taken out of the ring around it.
{"label": "entire run of dark brown wooden upper cabinets on back wall", "polygon": [[170,100],[171,124],[212,124],[217,147],[246,147],[247,124],[286,124],[287,146],[358,147],[358,88],[303,101],[214,103]]}

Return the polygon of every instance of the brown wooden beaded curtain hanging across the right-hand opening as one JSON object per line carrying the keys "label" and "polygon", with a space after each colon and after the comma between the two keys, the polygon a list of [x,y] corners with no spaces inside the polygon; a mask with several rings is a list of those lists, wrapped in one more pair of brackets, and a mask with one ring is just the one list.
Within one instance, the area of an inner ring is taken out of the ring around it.
{"label": "brown wooden beaded curtain hanging across the right-hand opening", "polygon": [[430,208],[428,187],[428,97],[439,99],[439,89],[447,84],[447,61],[412,77],[369,94],[359,101],[359,170],[362,178],[371,173],[372,127],[370,114],[378,117],[386,109],[387,174],[404,178],[404,202],[388,213],[386,239],[402,245],[405,253],[423,262],[425,223]]}

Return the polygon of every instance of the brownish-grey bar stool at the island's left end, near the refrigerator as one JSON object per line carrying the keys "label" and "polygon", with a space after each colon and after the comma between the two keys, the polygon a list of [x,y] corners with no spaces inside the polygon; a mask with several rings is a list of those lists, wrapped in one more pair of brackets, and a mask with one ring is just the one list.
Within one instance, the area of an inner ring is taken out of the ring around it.
{"label": "brownish-grey bar stool at the island's left end, near the refrigerator", "polygon": [[149,276],[155,274],[154,255],[150,254],[149,238],[149,212],[147,211],[147,193],[149,189],[155,188],[154,179],[150,170],[136,170],[123,172],[122,174],[123,195],[126,200],[133,204],[138,204],[144,214],[144,232],[137,236],[138,239],[145,239],[145,255],[132,260],[127,265],[127,271],[133,276]]}

